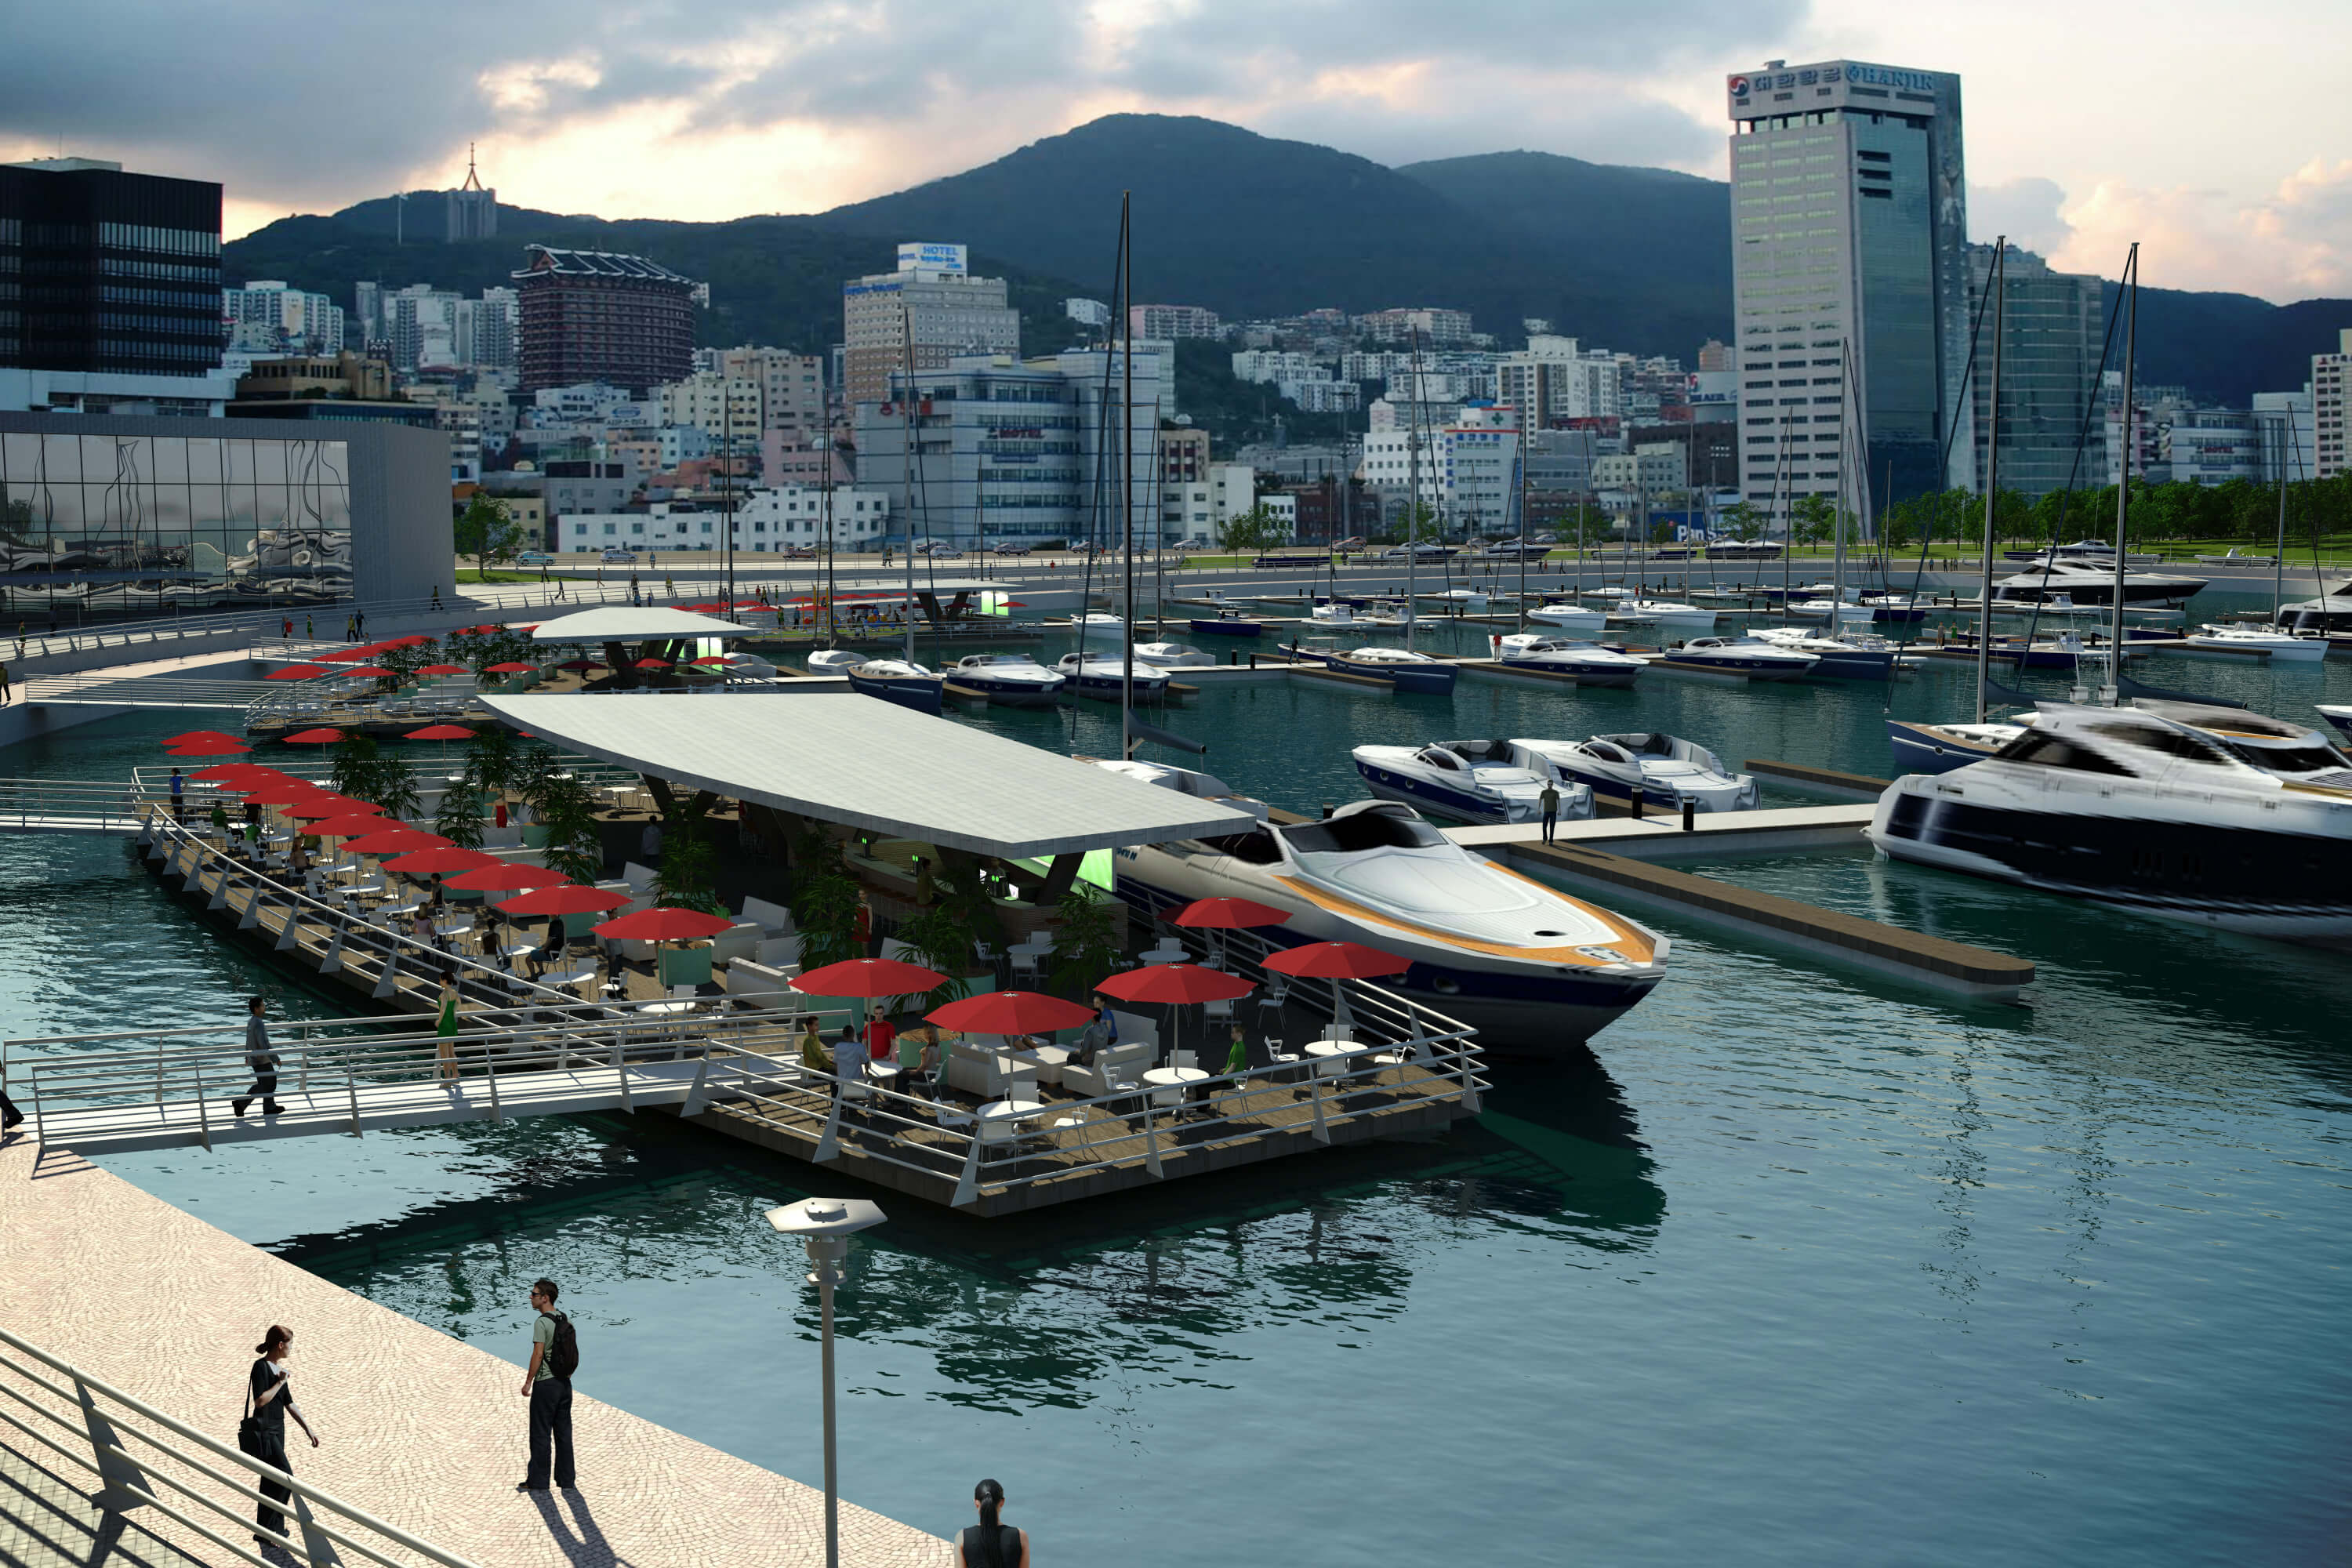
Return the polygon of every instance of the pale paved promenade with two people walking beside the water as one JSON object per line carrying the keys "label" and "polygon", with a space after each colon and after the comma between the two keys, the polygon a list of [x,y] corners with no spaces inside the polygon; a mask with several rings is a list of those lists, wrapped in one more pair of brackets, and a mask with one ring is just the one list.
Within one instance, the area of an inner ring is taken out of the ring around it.
{"label": "pale paved promenade with two people walking beside the water", "polygon": [[[294,1328],[296,1389],[325,1439],[310,1448],[289,1429],[296,1474],[487,1568],[823,1563],[818,1490],[597,1403],[593,1342],[574,1399],[579,1493],[515,1493],[527,1406],[513,1361],[270,1258],[75,1154],[35,1161],[28,1138],[0,1150],[0,1324],[221,1441],[235,1441],[261,1331]],[[814,1392],[779,1401],[776,1418],[814,1422]],[[73,1497],[85,1476],[71,1472],[66,1488],[42,1481],[45,1467],[9,1439],[0,1441],[14,1448],[0,1453],[0,1561],[87,1561],[26,1549],[35,1537],[71,1542],[66,1521],[89,1516]],[[127,1519],[146,1526],[146,1514]],[[167,1521],[153,1526],[176,1535]],[[111,1561],[191,1561],[136,1530],[132,1542]],[[842,1561],[946,1568],[948,1544],[842,1507]]]}

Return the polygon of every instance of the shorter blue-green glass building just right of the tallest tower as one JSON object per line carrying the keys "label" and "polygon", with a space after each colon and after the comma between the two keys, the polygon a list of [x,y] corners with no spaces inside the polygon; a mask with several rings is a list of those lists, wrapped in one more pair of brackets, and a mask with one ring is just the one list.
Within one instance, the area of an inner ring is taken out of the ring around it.
{"label": "shorter blue-green glass building just right of the tallest tower", "polygon": [[[1969,277],[1978,299],[1992,282],[1992,247],[1969,247]],[[2053,273],[2032,252],[2009,247],[2009,303],[2002,310],[2002,489],[2039,501],[2072,477],[2096,484],[2107,473],[2107,421],[2098,416],[2098,353],[2107,310],[2098,277]],[[1978,334],[1976,376],[1969,378],[1976,423],[1976,473],[1985,473],[1992,435],[1992,306]]]}

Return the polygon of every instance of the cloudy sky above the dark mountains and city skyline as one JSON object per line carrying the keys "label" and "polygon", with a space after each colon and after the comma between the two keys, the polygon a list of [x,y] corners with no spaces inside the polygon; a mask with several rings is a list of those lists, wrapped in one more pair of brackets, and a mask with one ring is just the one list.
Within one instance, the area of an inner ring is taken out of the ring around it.
{"label": "cloudy sky above the dark mountains and city skyline", "polygon": [[1959,71],[1969,207],[2072,270],[2352,294],[2343,0],[78,0],[9,7],[0,158],[219,179],[228,228],[454,186],[602,216],[821,212],[1115,110],[1381,162],[1722,176],[1722,78]]}

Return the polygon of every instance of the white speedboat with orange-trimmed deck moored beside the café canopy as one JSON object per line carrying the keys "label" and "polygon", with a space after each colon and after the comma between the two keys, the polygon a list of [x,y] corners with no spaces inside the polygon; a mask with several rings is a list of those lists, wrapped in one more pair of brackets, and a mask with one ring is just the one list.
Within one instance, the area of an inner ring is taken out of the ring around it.
{"label": "white speedboat with orange-trimmed deck moored beside the caf\u00e9 canopy", "polygon": [[[1169,778],[1181,769],[1152,771],[1183,788]],[[1261,931],[1279,945],[1345,940],[1409,959],[1381,985],[1475,1027],[1489,1051],[1576,1051],[1656,990],[1672,950],[1649,926],[1482,860],[1402,802],[1110,853],[1117,893],[1148,914],[1249,898],[1289,910]]]}

